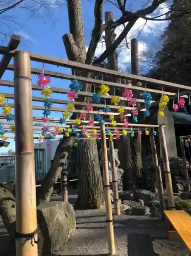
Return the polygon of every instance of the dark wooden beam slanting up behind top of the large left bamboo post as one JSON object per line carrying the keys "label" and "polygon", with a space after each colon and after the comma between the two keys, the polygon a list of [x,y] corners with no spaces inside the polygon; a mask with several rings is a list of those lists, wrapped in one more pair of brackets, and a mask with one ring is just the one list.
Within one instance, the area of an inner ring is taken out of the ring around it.
{"label": "dark wooden beam slanting up behind top of the large left bamboo post", "polygon": [[[20,43],[20,36],[12,35],[9,40],[8,51],[17,49],[19,43]],[[9,62],[11,61],[11,58],[12,58],[12,54],[9,54],[9,53],[2,57],[0,61],[0,79],[2,78],[4,72],[6,71],[6,68],[9,65]]]}

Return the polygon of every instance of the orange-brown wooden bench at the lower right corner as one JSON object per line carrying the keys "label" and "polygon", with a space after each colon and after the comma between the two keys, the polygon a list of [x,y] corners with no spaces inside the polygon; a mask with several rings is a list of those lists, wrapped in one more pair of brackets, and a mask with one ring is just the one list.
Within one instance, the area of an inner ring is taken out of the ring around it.
{"label": "orange-brown wooden bench at the lower right corner", "polygon": [[165,210],[164,215],[169,220],[169,239],[181,239],[188,248],[188,256],[191,256],[191,217],[184,210]]}

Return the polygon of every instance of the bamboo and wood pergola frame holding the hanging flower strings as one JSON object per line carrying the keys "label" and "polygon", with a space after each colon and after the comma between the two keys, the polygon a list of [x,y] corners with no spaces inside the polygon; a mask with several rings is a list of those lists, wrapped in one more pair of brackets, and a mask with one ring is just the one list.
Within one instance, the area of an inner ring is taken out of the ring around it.
{"label": "bamboo and wood pergola frame holding the hanging flower strings", "polygon": [[[11,40],[9,42],[8,47],[0,47],[0,54],[3,54],[3,58],[0,62],[0,78],[4,74],[5,70],[12,70],[14,71],[14,82],[7,81],[7,80],[0,80],[0,85],[5,87],[14,87],[14,95],[13,94],[5,94],[6,98],[15,99],[14,104],[8,104],[9,106],[12,106],[15,108],[15,128],[16,128],[16,168],[17,168],[17,174],[16,174],[16,203],[17,203],[17,212],[16,212],[16,231],[17,233],[20,233],[20,237],[16,239],[16,255],[23,255],[23,256],[29,256],[37,255],[37,244],[32,244],[31,241],[24,243],[21,243],[21,237],[25,236],[26,233],[32,233],[34,240],[37,237],[36,234],[36,228],[37,228],[37,222],[36,222],[36,194],[35,194],[35,167],[34,167],[34,146],[33,146],[33,131],[39,131],[37,128],[33,129],[34,126],[40,127],[42,126],[42,123],[37,124],[34,122],[41,122],[41,117],[33,117],[32,116],[32,109],[33,110],[43,110],[41,106],[34,106],[32,105],[32,101],[43,101],[44,99],[41,97],[32,97],[32,90],[38,90],[40,91],[42,87],[37,86],[36,84],[31,84],[31,74],[40,74],[42,73],[42,70],[35,69],[30,67],[31,61],[37,61],[41,63],[47,63],[51,65],[56,65],[60,67],[66,67],[70,68],[72,70],[83,70],[91,73],[107,75],[110,77],[115,78],[121,78],[121,79],[128,79],[132,81],[138,81],[142,83],[147,83],[147,91],[157,94],[157,95],[163,95],[166,94],[169,96],[170,99],[176,99],[178,96],[182,96],[184,98],[188,98],[186,94],[191,92],[191,88],[187,86],[183,86],[181,84],[171,83],[171,82],[165,82],[160,81],[156,79],[151,79],[148,77],[141,77],[137,75],[132,74],[126,74],[118,71],[103,69],[99,67],[94,67],[90,65],[85,65],[82,63],[69,61],[69,60],[63,60],[59,58],[29,53],[17,50],[17,46],[19,44],[19,36],[13,35],[11,37]],[[14,57],[14,65],[9,65],[9,62],[11,58]],[[92,83],[92,84],[102,84],[104,83],[107,86],[113,86],[116,88],[129,88],[133,91],[144,91],[145,86],[132,86],[131,84],[121,84],[121,83],[114,83],[104,80],[97,80],[93,78],[88,77],[78,77],[75,75],[69,75],[69,74],[63,74],[53,71],[46,71],[43,70],[44,75],[49,75],[51,77],[55,78],[61,78],[61,79],[77,79],[86,83]],[[152,89],[149,87],[149,85],[152,84],[156,87],[156,89]],[[171,91],[168,92],[165,88],[170,88]],[[61,93],[61,94],[67,94],[69,90],[67,89],[60,89],[60,88],[54,88],[51,87],[52,91],[55,93]],[[165,89],[165,90],[163,90]],[[89,92],[79,92],[80,96],[84,97],[92,97],[92,93]],[[111,96],[102,96],[105,99],[111,98]],[[27,100],[26,100],[27,98]],[[127,104],[127,100],[120,97],[120,99],[124,102],[124,109],[126,111],[126,114],[128,115],[130,111],[132,111],[134,108],[129,106]],[[53,99],[53,103],[58,104],[66,104],[69,101],[67,100],[57,100]],[[144,100],[137,99],[137,102],[144,103]],[[86,102],[80,102],[76,101],[74,102],[75,106],[80,106],[80,109],[75,109],[76,113],[82,113],[82,108],[87,105]],[[157,105],[159,101],[153,101],[152,105]],[[94,108],[103,108],[103,104],[92,104]],[[112,114],[114,116],[117,116],[118,113],[116,112],[117,106],[112,106],[112,112],[109,114]],[[145,105],[142,104],[138,110],[142,110],[145,108]],[[25,116],[23,110],[25,109]],[[65,108],[51,108],[51,111],[57,111],[62,112],[65,111]],[[71,111],[73,112],[73,111]],[[98,114],[100,113],[97,111],[91,111],[89,114]],[[108,113],[101,112],[102,115],[109,115]],[[26,118],[27,115],[27,118]],[[6,119],[5,115],[0,115],[0,119]],[[52,125],[55,127],[54,123],[58,123],[58,119],[50,118],[49,122],[52,123]],[[68,125],[65,125],[65,127],[68,127],[69,124],[73,123],[74,120],[68,120]],[[8,122],[1,121],[2,124],[8,124]],[[18,133],[20,129],[20,123],[22,123],[22,134]],[[105,193],[105,200],[106,200],[106,216],[107,216],[107,222],[108,222],[108,248],[109,248],[109,254],[113,255],[115,253],[115,245],[114,245],[114,234],[113,234],[113,220],[112,220],[112,211],[111,211],[111,201],[110,201],[110,191],[109,191],[109,176],[108,176],[108,163],[107,163],[107,148],[106,148],[106,135],[105,135],[105,126],[108,126],[109,129],[112,129],[111,124],[109,122],[106,122],[105,124],[101,125],[99,127],[99,122],[95,122],[96,125],[98,125],[98,129],[102,138],[102,159],[103,159],[103,171],[104,171],[104,193]],[[10,123],[9,123],[10,124]],[[87,121],[82,122],[83,127],[86,127],[89,129],[90,127],[87,125]],[[123,124],[117,123],[118,126],[122,126],[120,130],[123,130]],[[60,126],[60,125],[59,125]],[[63,125],[64,126],[64,125]],[[162,160],[163,160],[163,166],[165,169],[165,181],[166,181],[166,188],[168,192],[168,198],[169,198],[169,207],[170,209],[174,209],[174,196],[173,196],[173,190],[172,190],[172,181],[171,181],[171,173],[170,173],[170,167],[169,167],[169,161],[168,161],[168,153],[166,151],[166,142],[165,142],[165,135],[164,135],[164,126],[162,125],[149,125],[149,124],[130,124],[129,127],[134,127],[134,129],[145,129],[145,127],[148,127],[148,129],[155,128],[159,129],[159,136],[160,136],[160,142],[161,142],[161,148],[162,148]],[[127,130],[130,130],[128,128]],[[20,135],[18,135],[20,134]],[[9,138],[9,137],[8,137]],[[11,138],[11,136],[10,136]],[[36,137],[34,137],[36,138]],[[113,145],[110,143],[111,152],[113,150]],[[153,152],[155,154],[154,156],[154,165],[155,165],[155,172],[158,180],[158,187],[161,190],[162,194],[162,186],[161,186],[161,174],[160,174],[160,167],[157,163],[157,155],[155,148],[153,149]],[[112,154],[112,153],[111,153]],[[112,156],[113,157],[113,156]],[[113,159],[112,159],[113,161]],[[30,168],[29,168],[30,165]],[[112,168],[113,171],[113,182],[115,182],[116,179],[116,173],[115,168]],[[157,174],[158,173],[158,174]],[[29,182],[30,181],[30,182]],[[115,200],[118,200],[118,193],[115,185],[113,184],[114,192],[115,192]],[[27,189],[26,189],[27,188]],[[66,200],[66,195],[63,198]],[[25,199],[25,200],[23,200]],[[30,204],[29,204],[30,202]],[[163,205],[163,198],[162,195],[160,197],[160,203]],[[162,209],[163,210],[163,209]],[[115,204],[115,211],[116,214],[119,214],[118,211],[118,205]],[[27,214],[26,214],[27,212]],[[33,219],[33,221],[31,221]],[[29,225],[30,223],[30,225]]]}

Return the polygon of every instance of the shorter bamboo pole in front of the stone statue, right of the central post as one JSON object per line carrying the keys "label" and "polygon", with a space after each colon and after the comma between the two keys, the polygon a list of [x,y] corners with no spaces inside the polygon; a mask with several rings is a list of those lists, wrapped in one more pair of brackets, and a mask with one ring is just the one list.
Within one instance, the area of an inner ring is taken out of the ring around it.
{"label": "shorter bamboo pole in front of the stone statue, right of the central post", "polygon": [[120,202],[118,199],[117,174],[116,174],[116,166],[115,166],[115,158],[114,158],[113,141],[109,141],[109,150],[110,150],[111,168],[112,168],[112,190],[113,190],[115,215],[121,215]]}

